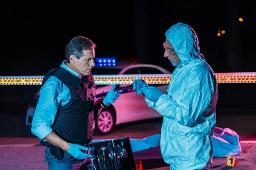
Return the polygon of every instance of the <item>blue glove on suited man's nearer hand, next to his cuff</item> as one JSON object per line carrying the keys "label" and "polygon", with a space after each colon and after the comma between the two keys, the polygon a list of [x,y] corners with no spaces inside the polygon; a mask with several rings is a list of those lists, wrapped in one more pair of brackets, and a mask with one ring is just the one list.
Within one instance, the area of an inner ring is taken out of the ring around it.
{"label": "blue glove on suited man's nearer hand, next to his cuff", "polygon": [[149,86],[140,89],[151,102],[157,102],[160,96],[163,95],[163,92],[157,87]]}

